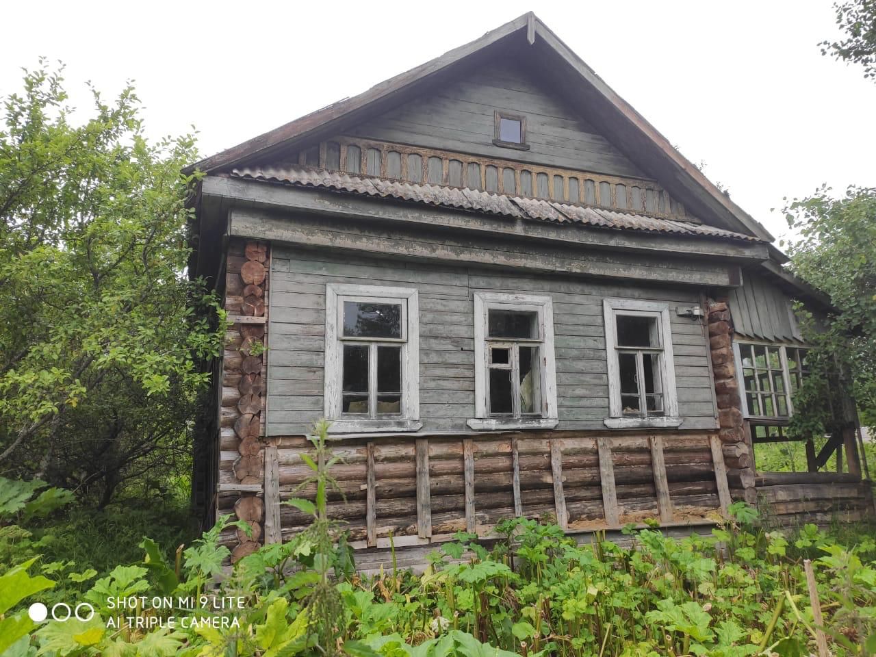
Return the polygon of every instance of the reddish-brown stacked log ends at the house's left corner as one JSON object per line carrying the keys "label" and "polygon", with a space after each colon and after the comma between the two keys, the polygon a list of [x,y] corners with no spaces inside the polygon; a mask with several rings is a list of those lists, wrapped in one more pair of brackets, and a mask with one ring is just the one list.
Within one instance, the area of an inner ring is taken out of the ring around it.
{"label": "reddish-brown stacked log ends at the house's left corner", "polygon": [[[229,246],[225,309],[229,314],[265,317],[268,284],[268,245],[234,242]],[[259,440],[265,409],[265,322],[235,322],[226,333],[223,359],[223,417],[233,426],[237,458],[231,466],[239,484],[262,484],[265,478],[265,445]],[[238,529],[231,562],[258,549],[263,535],[264,503],[257,493],[241,493],[234,505],[238,519],[251,527]]]}

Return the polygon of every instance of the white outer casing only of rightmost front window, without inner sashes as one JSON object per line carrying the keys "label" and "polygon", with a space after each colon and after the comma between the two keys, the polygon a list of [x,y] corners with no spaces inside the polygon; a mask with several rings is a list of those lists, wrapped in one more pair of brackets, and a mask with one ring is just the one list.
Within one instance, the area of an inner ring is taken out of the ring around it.
{"label": "white outer casing only of rightmost front window, without inner sashes", "polygon": [[[618,315],[653,317],[661,341],[661,385],[663,388],[663,414],[649,417],[624,415],[620,399],[620,358],[618,357]],[[675,359],[672,351],[672,329],[669,321],[669,304],[661,301],[634,299],[604,299],[605,350],[608,357],[609,417],[604,425],[609,428],[679,427],[682,418],[678,414],[678,392],[675,388]]]}

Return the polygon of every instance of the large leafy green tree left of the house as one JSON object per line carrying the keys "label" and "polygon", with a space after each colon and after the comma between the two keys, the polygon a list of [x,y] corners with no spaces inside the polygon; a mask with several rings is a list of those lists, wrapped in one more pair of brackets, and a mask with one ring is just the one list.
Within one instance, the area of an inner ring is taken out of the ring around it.
{"label": "large leafy green tree left of the house", "polygon": [[3,99],[0,469],[105,504],[184,461],[221,311],[185,272],[193,138],[147,141],[131,86],[77,122],[62,71]]}

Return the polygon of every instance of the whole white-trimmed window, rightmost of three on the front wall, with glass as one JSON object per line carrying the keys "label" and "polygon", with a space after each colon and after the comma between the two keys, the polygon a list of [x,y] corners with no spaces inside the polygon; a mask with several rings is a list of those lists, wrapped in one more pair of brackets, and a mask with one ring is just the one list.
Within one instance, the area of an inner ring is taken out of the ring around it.
{"label": "whole white-trimmed window, rightmost of three on the front wall, with glass", "polygon": [[669,307],[657,301],[603,300],[608,351],[606,427],[678,427]]}

